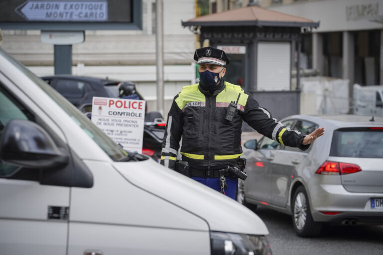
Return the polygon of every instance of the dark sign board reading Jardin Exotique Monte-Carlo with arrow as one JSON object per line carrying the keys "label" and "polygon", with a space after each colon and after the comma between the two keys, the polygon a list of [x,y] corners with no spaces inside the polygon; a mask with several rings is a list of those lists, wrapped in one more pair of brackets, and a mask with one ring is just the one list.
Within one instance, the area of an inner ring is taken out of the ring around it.
{"label": "dark sign board reading Jardin Exotique Monte-Carlo with arrow", "polygon": [[141,0],[1,0],[0,28],[141,29]]}

